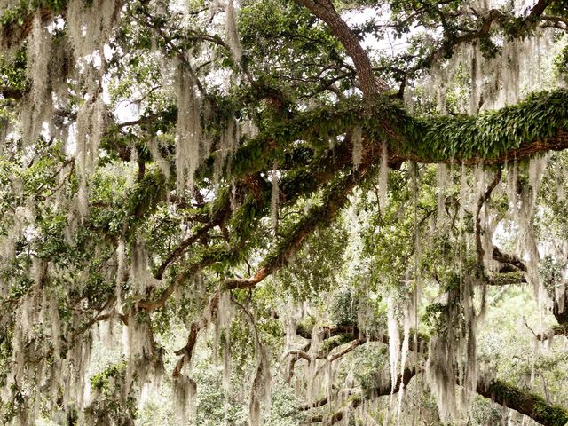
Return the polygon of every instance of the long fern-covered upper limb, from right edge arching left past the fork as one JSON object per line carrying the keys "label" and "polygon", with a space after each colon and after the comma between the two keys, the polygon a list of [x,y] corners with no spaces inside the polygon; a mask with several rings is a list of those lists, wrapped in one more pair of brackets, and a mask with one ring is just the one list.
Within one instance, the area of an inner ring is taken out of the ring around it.
{"label": "long fern-covered upper limb, from right edge arching left past the fork", "polygon": [[[385,118],[391,131],[385,130]],[[457,117],[415,117],[388,98],[377,100],[366,113],[360,99],[347,99],[266,126],[234,154],[232,178],[269,170],[297,140],[317,150],[327,146],[328,140],[349,133],[356,124],[364,128],[366,150],[380,146],[385,138],[391,141],[390,164],[408,160],[504,163],[568,147],[568,91],[533,93],[514,106]],[[380,150],[375,149],[375,154]],[[212,163],[201,170],[202,176],[212,172]]]}

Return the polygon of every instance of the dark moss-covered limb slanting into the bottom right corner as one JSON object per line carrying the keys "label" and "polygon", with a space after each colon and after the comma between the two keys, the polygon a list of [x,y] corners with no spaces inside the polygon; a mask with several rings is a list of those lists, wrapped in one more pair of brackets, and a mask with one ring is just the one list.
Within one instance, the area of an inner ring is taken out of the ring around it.
{"label": "dark moss-covered limb slanting into the bottom right corner", "polygon": [[511,383],[501,380],[493,380],[489,383],[479,381],[477,393],[546,426],[564,426],[568,422],[568,410],[561,406],[548,404],[539,395],[521,390]]}

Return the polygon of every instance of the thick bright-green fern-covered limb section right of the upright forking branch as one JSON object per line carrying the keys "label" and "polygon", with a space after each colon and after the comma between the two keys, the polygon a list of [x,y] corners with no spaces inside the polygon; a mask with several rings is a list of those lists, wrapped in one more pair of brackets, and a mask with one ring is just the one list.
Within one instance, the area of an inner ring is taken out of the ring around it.
{"label": "thick bright-green fern-covered limb section right of the upright forking branch", "polygon": [[495,164],[568,147],[568,91],[533,93],[525,101],[477,116],[413,118],[398,106],[383,105],[404,142],[393,151],[399,161]]}

